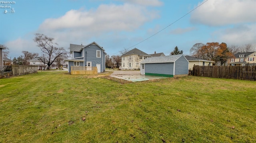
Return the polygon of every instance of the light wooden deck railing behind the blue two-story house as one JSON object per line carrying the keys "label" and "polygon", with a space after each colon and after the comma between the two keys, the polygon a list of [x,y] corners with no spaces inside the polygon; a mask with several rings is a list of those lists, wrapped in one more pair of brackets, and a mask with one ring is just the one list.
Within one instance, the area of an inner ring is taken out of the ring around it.
{"label": "light wooden deck railing behind the blue two-story house", "polygon": [[73,67],[71,66],[71,74],[97,74],[97,67]]}

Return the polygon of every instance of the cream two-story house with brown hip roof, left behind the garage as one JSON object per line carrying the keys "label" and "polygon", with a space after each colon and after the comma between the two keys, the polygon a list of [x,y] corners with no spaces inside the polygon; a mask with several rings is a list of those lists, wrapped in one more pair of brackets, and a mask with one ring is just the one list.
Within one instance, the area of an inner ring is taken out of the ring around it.
{"label": "cream two-story house with brown hip roof, left behind the garage", "polygon": [[147,53],[140,51],[137,48],[128,51],[124,55],[121,56],[122,58],[122,66],[121,70],[136,70],[140,69],[140,62],[148,57],[152,57]]}

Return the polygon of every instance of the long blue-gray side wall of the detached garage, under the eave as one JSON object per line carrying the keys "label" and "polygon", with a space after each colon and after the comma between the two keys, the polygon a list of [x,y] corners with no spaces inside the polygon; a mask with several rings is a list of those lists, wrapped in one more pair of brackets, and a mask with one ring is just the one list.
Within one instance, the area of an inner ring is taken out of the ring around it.
{"label": "long blue-gray side wall of the detached garage, under the eave", "polygon": [[173,75],[174,63],[145,64],[145,73]]}

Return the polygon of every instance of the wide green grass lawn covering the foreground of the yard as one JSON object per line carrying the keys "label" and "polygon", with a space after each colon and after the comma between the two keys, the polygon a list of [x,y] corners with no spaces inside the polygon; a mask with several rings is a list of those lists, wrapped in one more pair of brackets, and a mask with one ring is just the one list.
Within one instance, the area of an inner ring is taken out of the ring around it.
{"label": "wide green grass lawn covering the foreground of the yard", "polygon": [[108,74],[0,79],[0,143],[256,142],[256,82]]}

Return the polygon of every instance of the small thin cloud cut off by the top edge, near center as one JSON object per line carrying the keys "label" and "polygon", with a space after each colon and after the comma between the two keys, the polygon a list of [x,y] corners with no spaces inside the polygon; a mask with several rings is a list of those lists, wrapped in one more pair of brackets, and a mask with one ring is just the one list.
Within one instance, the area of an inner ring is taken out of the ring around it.
{"label": "small thin cloud cut off by the top edge, near center", "polygon": [[120,0],[127,3],[139,4],[142,6],[162,6],[159,0]]}

